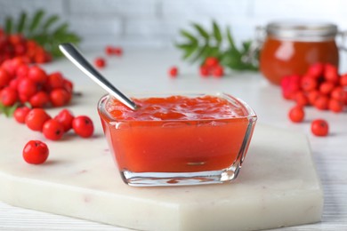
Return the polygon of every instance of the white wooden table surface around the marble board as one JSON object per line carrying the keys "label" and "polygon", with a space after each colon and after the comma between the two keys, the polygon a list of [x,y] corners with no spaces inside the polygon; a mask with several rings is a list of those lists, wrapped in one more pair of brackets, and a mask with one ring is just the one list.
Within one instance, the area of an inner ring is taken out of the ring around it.
{"label": "white wooden table surface around the marble board", "polygon": [[[87,57],[93,60],[96,56],[105,56],[102,52],[89,52]],[[342,114],[307,108],[303,123],[291,123],[287,118],[287,111],[294,103],[283,100],[280,89],[268,84],[259,73],[232,72],[222,79],[213,77],[203,79],[198,76],[197,66],[188,66],[180,60],[179,53],[170,51],[125,51],[125,55],[121,58],[107,59],[108,67],[101,72],[124,92],[229,92],[246,100],[254,108],[259,123],[305,133],[311,142],[314,162],[324,188],[322,221],[317,224],[277,230],[347,230],[347,108]],[[168,68],[173,65],[180,68],[180,75],[176,79],[167,76]],[[45,68],[49,72],[60,70],[75,83],[77,88],[93,85],[93,82],[73,67],[68,60],[54,61],[45,65]],[[328,137],[318,138],[311,135],[310,122],[315,118],[327,119],[330,124]],[[0,230],[39,229],[129,230],[16,208],[0,202]]]}

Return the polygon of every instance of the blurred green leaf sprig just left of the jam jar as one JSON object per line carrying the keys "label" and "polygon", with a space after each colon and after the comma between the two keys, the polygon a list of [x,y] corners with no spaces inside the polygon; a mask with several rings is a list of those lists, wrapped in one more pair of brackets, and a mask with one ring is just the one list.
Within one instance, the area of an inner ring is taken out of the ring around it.
{"label": "blurred green leaf sprig just left of the jam jar", "polygon": [[[207,57],[215,57],[220,60],[222,66],[227,68],[258,70],[256,62],[245,59],[251,53],[252,42],[245,41],[238,48],[231,35],[230,27],[226,28],[225,35],[223,35],[221,28],[215,21],[212,22],[211,32],[198,23],[192,23],[191,26],[195,31],[190,33],[181,29],[180,34],[186,41],[182,44],[175,44],[178,49],[182,50],[183,60],[190,60],[192,63],[196,61],[204,63]],[[255,53],[252,57],[253,60],[257,60],[257,56],[258,54]]]}

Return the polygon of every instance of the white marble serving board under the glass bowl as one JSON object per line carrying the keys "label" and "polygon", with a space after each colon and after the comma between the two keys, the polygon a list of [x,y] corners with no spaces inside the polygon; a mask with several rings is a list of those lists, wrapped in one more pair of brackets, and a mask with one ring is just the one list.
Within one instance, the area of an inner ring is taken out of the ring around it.
{"label": "white marble serving board under the glass bowl", "polygon": [[[103,137],[96,104],[102,92],[80,89],[69,109],[91,116],[93,138],[44,139],[0,115],[0,200],[138,230],[256,230],[318,222],[323,192],[306,137],[258,123],[238,179],[194,187],[129,187]],[[55,116],[61,108],[48,110]],[[41,139],[48,161],[25,163],[22,148]]]}

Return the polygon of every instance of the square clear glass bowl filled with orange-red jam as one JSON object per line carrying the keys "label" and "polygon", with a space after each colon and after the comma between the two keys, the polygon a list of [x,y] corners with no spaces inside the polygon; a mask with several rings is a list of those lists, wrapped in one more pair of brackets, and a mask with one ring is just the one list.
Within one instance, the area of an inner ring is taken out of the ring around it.
{"label": "square clear glass bowl filled with orange-red jam", "polygon": [[[257,119],[244,101],[219,92],[132,98],[145,109],[133,112],[109,95],[98,103],[103,131],[126,184],[182,186],[237,178]],[[166,103],[160,105],[162,99]],[[201,99],[207,101],[194,104]]]}

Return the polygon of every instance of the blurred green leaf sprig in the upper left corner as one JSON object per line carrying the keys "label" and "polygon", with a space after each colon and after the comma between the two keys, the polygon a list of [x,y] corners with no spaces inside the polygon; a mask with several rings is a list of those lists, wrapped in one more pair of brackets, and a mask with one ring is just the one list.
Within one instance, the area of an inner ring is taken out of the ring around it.
{"label": "blurred green leaf sprig in the upper left corner", "polygon": [[4,30],[7,34],[18,33],[28,39],[34,39],[42,45],[53,57],[61,57],[58,44],[78,44],[81,38],[69,31],[69,24],[61,23],[58,15],[46,15],[43,10],[36,11],[32,17],[27,12],[21,12],[18,19],[7,17]]}

